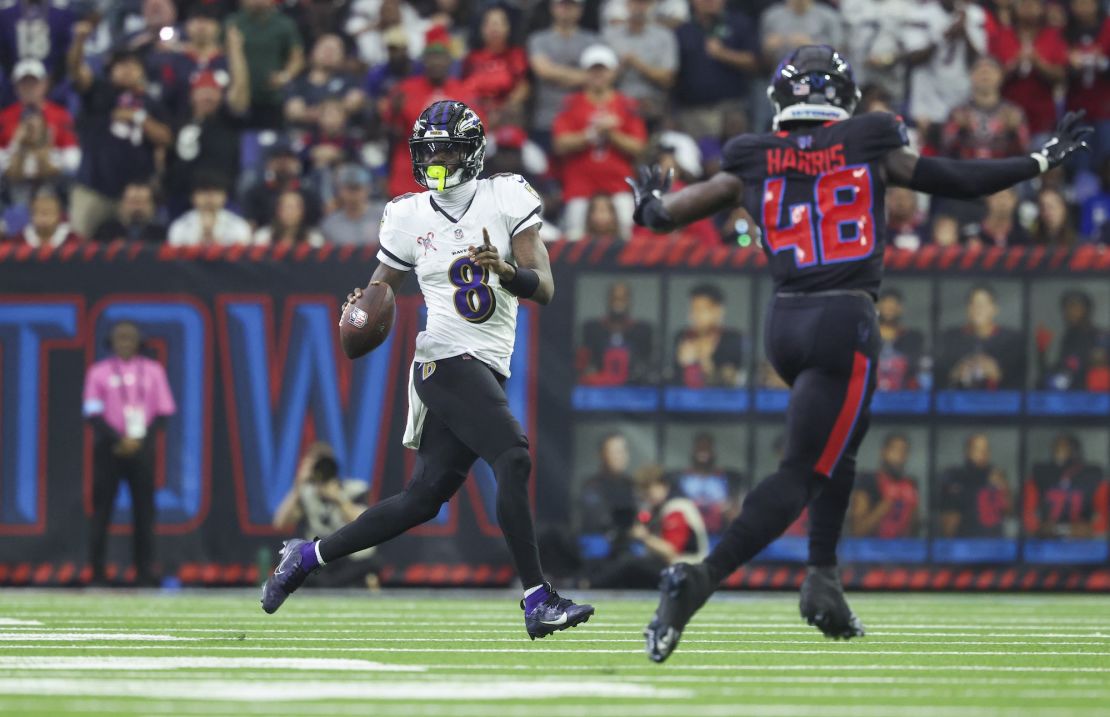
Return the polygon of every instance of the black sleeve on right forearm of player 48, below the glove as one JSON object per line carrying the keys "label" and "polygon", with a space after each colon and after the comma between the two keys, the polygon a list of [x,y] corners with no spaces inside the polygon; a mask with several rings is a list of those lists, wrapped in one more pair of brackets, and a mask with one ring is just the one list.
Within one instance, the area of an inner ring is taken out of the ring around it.
{"label": "black sleeve on right forearm of player 48, below the glove", "polygon": [[937,196],[975,199],[1000,192],[1040,174],[1031,156],[1002,160],[952,160],[922,156],[917,160],[909,188]]}

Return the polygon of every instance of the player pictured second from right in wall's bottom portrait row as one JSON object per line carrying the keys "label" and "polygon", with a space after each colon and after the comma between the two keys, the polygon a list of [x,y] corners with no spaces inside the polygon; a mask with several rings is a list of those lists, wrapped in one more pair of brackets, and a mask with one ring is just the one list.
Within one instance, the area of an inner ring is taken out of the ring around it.
{"label": "player pictured second from right in wall's bottom portrait row", "polygon": [[963,465],[940,475],[938,501],[941,537],[1003,537],[1013,515],[1013,495],[1006,474],[990,460],[990,438],[972,433],[965,444]]}

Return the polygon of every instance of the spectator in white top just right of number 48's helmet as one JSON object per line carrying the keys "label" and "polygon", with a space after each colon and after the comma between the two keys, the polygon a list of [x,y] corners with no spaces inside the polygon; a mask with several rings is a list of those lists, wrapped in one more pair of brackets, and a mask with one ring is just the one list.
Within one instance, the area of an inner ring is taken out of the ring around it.
{"label": "spectator in white top just right of number 48's helmet", "polygon": [[842,0],[844,47],[856,83],[876,88],[895,107],[906,100],[902,29],[912,10],[909,0]]}

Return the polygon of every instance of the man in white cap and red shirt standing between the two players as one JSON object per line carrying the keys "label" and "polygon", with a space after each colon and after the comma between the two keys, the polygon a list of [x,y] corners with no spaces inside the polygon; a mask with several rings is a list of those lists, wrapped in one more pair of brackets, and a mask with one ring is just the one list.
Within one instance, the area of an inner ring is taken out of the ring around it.
{"label": "man in white cap and red shirt standing between the two players", "polygon": [[586,48],[579,64],[586,70],[586,85],[566,99],[552,127],[566,200],[563,231],[572,241],[582,239],[589,198],[609,194],[626,239],[635,202],[624,180],[644,151],[647,128],[636,103],[613,87],[620,64],[613,50],[604,44]]}

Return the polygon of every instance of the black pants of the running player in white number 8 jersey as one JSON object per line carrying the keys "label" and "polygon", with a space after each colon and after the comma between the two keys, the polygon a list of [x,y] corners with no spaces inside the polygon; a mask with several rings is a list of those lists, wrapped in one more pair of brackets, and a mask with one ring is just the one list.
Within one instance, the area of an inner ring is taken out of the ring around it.
{"label": "black pants of the running player in white number 8 jersey", "polygon": [[505,377],[468,354],[413,366],[427,406],[416,466],[404,491],[320,543],[325,562],[380,545],[434,518],[477,458],[497,478],[497,523],[525,587],[543,583],[528,504],[528,440],[508,408]]}

